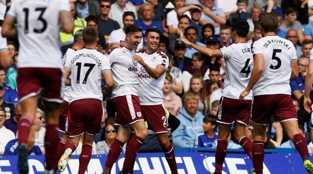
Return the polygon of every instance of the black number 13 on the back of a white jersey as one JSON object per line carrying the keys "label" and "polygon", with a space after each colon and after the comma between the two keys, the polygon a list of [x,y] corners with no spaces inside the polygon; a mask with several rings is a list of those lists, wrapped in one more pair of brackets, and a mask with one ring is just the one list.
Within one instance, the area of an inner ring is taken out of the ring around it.
{"label": "black number 13 on the back of a white jersey", "polygon": [[[35,8],[35,11],[40,11],[40,14],[38,16],[39,21],[42,22],[42,28],[38,29],[38,28],[34,28],[34,32],[35,33],[43,33],[46,29],[47,29],[47,20],[42,18],[42,15],[44,14],[44,12],[46,11],[47,8],[42,7],[42,8]],[[28,16],[29,16],[29,8],[23,8],[23,11],[25,12],[25,34],[29,33],[29,29],[28,29]]]}

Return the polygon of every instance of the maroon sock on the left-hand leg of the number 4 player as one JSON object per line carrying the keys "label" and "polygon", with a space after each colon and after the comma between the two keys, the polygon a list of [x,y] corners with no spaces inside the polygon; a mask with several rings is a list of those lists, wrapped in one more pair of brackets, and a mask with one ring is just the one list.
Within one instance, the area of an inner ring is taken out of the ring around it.
{"label": "maroon sock on the left-hand leg of the number 4 player", "polygon": [[222,174],[223,163],[226,157],[227,140],[218,140],[218,146],[215,152],[215,172],[214,174]]}

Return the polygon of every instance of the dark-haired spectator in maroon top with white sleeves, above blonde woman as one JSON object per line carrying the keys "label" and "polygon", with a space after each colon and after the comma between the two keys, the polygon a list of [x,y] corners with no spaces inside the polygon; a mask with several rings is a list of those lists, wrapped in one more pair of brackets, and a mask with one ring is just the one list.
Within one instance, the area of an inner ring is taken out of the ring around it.
{"label": "dark-haired spectator in maroon top with white sleeves, above blonde woman", "polygon": [[195,53],[191,59],[192,65],[185,66],[182,72],[183,87],[184,91],[189,89],[190,79],[194,74],[201,74],[202,77],[207,77],[209,75],[209,69],[205,66],[203,55],[200,53]]}

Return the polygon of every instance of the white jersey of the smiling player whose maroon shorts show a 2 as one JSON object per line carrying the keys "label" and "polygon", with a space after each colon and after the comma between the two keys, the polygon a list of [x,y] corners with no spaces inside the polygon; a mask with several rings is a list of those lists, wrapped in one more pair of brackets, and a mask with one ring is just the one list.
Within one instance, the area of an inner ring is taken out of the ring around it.
{"label": "white jersey of the smiling player whose maroon shorts show a 2", "polygon": [[[164,67],[165,71],[168,67],[168,57],[161,51],[156,51],[153,54],[147,54],[146,52],[137,53],[141,56],[146,64],[156,69],[157,66]],[[166,73],[164,72],[161,77],[154,79],[145,70],[145,68],[138,64],[138,96],[141,105],[157,105],[163,103],[163,84]]]}

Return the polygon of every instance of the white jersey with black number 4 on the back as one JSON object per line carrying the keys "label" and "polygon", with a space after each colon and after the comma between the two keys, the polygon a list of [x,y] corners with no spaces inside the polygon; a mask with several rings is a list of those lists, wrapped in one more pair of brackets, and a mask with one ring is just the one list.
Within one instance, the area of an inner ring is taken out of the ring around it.
{"label": "white jersey with black number 4 on the back", "polygon": [[[247,87],[253,69],[251,44],[237,43],[219,49],[226,63],[223,96],[239,99],[240,93]],[[246,99],[252,99],[250,92]]]}

